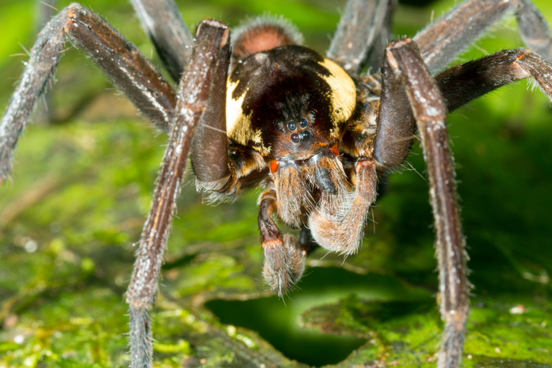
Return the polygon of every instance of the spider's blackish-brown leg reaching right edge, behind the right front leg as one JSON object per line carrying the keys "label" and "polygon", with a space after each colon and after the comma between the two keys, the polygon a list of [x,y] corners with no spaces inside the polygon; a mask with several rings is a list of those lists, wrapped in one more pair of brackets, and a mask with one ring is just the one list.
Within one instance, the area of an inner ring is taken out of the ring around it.
{"label": "spider's blackish-brown leg reaching right edge, behind the right front leg", "polygon": [[492,90],[532,76],[552,100],[552,64],[524,48],[502,50],[435,76],[449,111]]}

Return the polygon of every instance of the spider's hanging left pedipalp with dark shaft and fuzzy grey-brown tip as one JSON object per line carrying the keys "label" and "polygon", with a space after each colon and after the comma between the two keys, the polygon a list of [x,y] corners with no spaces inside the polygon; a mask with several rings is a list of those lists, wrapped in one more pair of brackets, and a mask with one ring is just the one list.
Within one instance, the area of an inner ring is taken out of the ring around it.
{"label": "spider's hanging left pedipalp with dark shaft and fuzzy grey-brown tip", "polygon": [[263,276],[266,283],[284,296],[303,276],[306,249],[301,249],[294,236],[282,232],[273,220],[277,209],[276,192],[266,190],[259,198],[259,230],[264,249]]}

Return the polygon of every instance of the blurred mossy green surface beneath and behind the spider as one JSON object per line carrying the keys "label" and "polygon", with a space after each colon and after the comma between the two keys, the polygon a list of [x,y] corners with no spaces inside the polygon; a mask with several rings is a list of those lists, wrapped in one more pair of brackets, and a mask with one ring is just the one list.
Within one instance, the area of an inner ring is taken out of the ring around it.
{"label": "blurred mossy green surface beneath and behind the spider", "polygon": [[[552,3],[534,2],[552,23]],[[451,3],[431,8],[438,15]],[[128,3],[89,5],[151,54]],[[236,25],[263,9],[285,14],[317,50],[343,5],[180,3],[190,25],[204,17]],[[397,34],[413,35],[431,8],[400,8]],[[0,105],[25,60],[8,54],[23,52],[18,41],[32,44],[33,9],[30,1],[0,3]],[[515,21],[507,24],[464,57],[520,45]],[[53,96],[59,123],[30,125],[12,181],[0,188],[0,367],[127,364],[123,294],[166,137],[106,90],[90,64],[67,52]],[[465,367],[552,367],[549,105],[522,82],[449,117],[475,285]],[[377,201],[362,251],[344,261],[317,250],[285,300],[270,296],[261,277],[257,193],[214,207],[186,181],[152,313],[157,365],[306,366],[292,358],[340,368],[435,366],[442,323],[420,147],[409,163],[415,171],[392,176]]]}

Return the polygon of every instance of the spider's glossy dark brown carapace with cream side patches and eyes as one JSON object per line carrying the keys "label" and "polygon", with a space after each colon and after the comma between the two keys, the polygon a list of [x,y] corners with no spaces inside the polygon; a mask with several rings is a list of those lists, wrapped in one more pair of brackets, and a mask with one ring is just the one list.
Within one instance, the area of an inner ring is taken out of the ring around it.
{"label": "spider's glossy dark brown carapace with cream side patches and eyes", "polygon": [[356,105],[351,76],[299,45],[250,55],[227,88],[230,139],[278,161],[308,159],[335,145]]}

